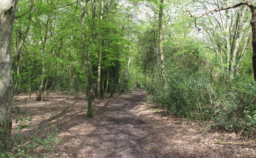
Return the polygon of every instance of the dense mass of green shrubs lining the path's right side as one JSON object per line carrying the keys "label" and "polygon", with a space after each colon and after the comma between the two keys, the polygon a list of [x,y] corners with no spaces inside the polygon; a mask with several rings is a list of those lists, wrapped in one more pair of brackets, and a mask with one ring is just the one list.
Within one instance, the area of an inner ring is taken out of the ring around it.
{"label": "dense mass of green shrubs lining the path's right side", "polygon": [[153,82],[150,101],[176,116],[214,121],[219,129],[252,136],[256,133],[255,82],[246,74],[223,74],[205,50],[200,43],[186,42],[181,51],[167,54],[167,82]]}

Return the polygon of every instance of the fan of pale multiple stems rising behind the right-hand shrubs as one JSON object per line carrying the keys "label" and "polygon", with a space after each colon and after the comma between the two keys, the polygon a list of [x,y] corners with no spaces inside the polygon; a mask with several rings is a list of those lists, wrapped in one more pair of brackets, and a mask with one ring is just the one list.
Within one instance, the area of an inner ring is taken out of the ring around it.
{"label": "fan of pale multiple stems rising behind the right-hand shrubs", "polygon": [[[216,58],[220,59],[219,64],[223,74],[229,74],[231,77],[234,77],[236,75],[236,69],[238,68],[237,60],[239,60],[240,56],[239,48],[241,48],[243,26],[247,19],[245,15],[246,6],[243,5],[243,3],[245,4],[246,2],[242,2],[242,5],[239,4],[231,7],[229,6],[229,0],[226,0],[225,3],[227,7],[219,8],[218,11],[226,10],[226,17],[224,18],[223,15],[220,15],[219,18],[213,16],[212,20],[210,20],[212,27],[206,28],[206,31],[208,35],[211,36],[210,39],[218,46],[218,49],[214,49],[214,52]],[[219,4],[212,5],[220,7]],[[231,8],[235,7],[239,7],[238,11],[231,14]],[[222,35],[220,33],[222,33]],[[222,41],[223,38],[225,42]]]}

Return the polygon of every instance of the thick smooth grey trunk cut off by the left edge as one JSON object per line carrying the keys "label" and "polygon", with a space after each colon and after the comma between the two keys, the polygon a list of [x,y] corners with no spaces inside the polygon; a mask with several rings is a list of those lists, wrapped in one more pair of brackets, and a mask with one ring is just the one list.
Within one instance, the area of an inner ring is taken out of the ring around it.
{"label": "thick smooth grey trunk cut off by the left edge", "polygon": [[0,0],[0,154],[6,158],[12,131],[12,26],[17,0]]}

